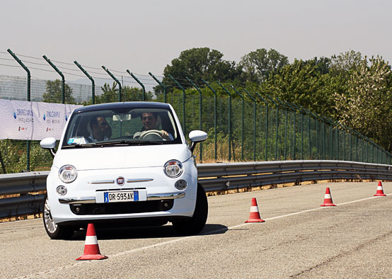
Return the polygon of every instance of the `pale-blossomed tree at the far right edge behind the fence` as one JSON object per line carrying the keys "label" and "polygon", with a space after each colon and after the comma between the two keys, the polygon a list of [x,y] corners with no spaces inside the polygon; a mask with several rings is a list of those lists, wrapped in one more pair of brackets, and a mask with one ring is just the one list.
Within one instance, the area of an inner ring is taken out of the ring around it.
{"label": "pale-blossomed tree at the far right edge behind the fence", "polygon": [[345,125],[391,150],[391,66],[382,57],[365,56],[348,80],[347,93],[335,94],[336,109]]}

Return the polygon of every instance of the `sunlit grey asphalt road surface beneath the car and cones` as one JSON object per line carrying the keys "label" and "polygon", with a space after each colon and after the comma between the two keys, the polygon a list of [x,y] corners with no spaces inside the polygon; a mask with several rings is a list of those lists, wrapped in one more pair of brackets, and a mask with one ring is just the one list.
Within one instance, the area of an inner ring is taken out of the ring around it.
{"label": "sunlit grey asphalt road surface beneath the car and cones", "polygon": [[[392,183],[384,183],[392,193]],[[97,231],[102,261],[75,261],[85,235],[51,240],[42,220],[0,224],[1,278],[392,278],[392,194],[320,183],[209,197],[202,234],[171,225]],[[336,207],[320,207],[330,187]],[[264,223],[246,224],[251,198]]]}

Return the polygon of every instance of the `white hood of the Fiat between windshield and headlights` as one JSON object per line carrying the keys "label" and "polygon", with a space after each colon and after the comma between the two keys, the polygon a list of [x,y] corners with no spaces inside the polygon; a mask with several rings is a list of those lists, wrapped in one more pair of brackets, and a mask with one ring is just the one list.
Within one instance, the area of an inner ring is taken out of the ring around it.
{"label": "white hood of the Fiat between windshield and headlights", "polygon": [[72,165],[77,170],[122,169],[163,166],[176,159],[184,162],[192,156],[186,144],[165,144],[127,147],[86,147],[60,149],[53,166]]}

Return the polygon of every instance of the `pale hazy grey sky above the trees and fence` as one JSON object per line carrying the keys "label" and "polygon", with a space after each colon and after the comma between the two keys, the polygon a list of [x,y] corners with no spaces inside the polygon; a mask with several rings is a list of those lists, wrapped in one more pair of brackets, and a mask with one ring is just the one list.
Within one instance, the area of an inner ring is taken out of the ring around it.
{"label": "pale hazy grey sky above the trees and fence", "polygon": [[[12,59],[8,48],[30,57],[76,59],[91,67],[157,76],[192,47],[219,50],[224,59],[236,62],[263,47],[290,62],[347,50],[392,62],[392,1],[2,1],[0,23],[0,74],[11,76],[25,72],[2,66],[16,65],[6,60]],[[35,69],[31,74],[59,77]]]}

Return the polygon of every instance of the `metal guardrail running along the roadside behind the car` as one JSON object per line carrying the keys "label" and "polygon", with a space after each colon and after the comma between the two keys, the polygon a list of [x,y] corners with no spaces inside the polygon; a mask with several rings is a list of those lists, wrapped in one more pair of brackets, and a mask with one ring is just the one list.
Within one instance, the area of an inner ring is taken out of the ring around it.
{"label": "metal guardrail running along the roadside behind the car", "polygon": [[[207,191],[334,179],[392,180],[391,165],[356,161],[255,161],[199,164],[199,182]],[[49,171],[0,175],[0,218],[42,212]]]}

